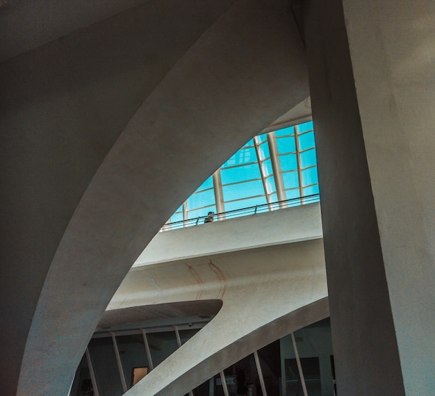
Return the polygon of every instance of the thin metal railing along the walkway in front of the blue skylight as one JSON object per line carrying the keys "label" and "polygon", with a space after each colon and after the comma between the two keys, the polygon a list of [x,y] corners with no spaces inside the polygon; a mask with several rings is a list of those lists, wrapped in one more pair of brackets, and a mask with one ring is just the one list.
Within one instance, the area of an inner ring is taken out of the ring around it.
{"label": "thin metal railing along the walkway in front of the blue skylight", "polygon": [[[293,206],[300,206],[305,204],[311,204],[313,202],[320,201],[319,194],[306,195],[305,197],[286,199],[284,201],[273,202],[272,204],[263,204],[256,206],[249,206],[249,208],[236,209],[235,211],[228,211],[222,213],[215,213],[213,220],[222,221],[235,217],[242,217],[248,215],[256,215],[257,213],[265,213],[269,211],[277,211],[279,209],[291,208]],[[179,222],[166,223],[161,231],[170,231],[174,229],[181,229],[184,227],[197,226],[204,224],[208,216],[199,216],[189,220],[180,220]]]}

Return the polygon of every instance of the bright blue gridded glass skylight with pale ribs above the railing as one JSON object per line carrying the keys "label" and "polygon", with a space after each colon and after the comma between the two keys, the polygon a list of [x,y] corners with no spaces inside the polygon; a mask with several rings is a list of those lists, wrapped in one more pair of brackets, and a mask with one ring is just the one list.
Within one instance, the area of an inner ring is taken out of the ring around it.
{"label": "bright blue gridded glass skylight with pale ribs above the railing", "polygon": [[[199,186],[168,223],[276,202],[279,206],[270,205],[269,210],[304,204],[304,197],[318,192],[313,122],[305,122],[249,140]],[[293,200],[286,203],[288,199]],[[224,217],[217,216],[217,220]]]}

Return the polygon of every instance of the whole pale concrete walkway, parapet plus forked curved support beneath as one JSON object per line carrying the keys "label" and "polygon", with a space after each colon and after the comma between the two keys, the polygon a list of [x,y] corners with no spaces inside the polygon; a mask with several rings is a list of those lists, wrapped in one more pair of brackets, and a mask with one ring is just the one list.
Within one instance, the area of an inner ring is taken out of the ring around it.
{"label": "whole pale concrete walkway, parapet plus forked curved support beneath", "polygon": [[115,320],[124,309],[153,304],[223,304],[126,395],[185,395],[257,349],[329,316],[321,236],[319,204],[158,233],[106,315]]}

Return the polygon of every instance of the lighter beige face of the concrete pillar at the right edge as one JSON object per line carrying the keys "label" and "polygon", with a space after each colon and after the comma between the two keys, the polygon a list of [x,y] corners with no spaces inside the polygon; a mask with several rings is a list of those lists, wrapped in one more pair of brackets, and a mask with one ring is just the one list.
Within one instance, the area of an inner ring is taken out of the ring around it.
{"label": "lighter beige face of the concrete pillar at the right edge", "polygon": [[435,3],[344,0],[407,395],[435,389]]}

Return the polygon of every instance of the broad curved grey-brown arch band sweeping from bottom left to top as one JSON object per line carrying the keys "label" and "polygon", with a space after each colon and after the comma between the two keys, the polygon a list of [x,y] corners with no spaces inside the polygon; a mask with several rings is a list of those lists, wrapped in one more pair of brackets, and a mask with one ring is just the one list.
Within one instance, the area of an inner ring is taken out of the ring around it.
{"label": "broad curved grey-brown arch band sweeping from bottom left to top", "polygon": [[17,395],[67,393],[99,317],[144,245],[226,156],[308,96],[291,20],[286,1],[236,1],[131,119],[51,262]]}

